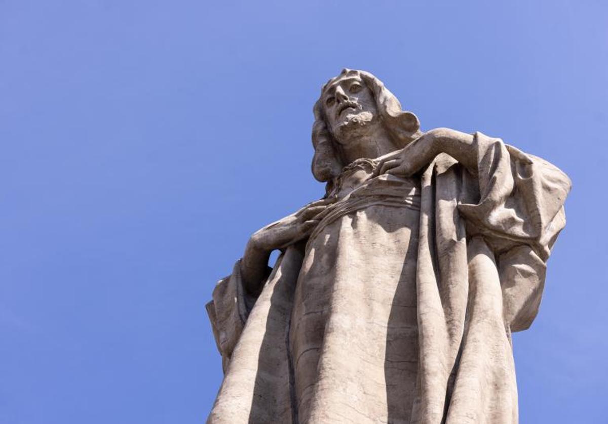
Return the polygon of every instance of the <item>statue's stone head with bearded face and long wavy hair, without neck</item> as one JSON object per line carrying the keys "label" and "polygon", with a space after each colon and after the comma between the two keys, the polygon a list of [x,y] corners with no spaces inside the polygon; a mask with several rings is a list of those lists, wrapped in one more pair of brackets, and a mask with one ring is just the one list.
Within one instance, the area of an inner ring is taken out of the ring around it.
{"label": "statue's stone head with bearded face and long wavy hair, without neck", "polygon": [[399,100],[382,81],[362,70],[343,69],[321,89],[314,105],[313,175],[329,181],[340,174],[342,152],[348,143],[365,140],[378,126],[384,127],[396,148],[419,137],[420,122],[412,112],[402,111]]}

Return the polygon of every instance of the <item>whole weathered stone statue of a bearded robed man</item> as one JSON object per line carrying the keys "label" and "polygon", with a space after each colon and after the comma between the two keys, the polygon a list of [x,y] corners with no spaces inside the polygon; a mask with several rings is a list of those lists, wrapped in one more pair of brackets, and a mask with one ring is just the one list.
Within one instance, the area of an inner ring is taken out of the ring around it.
{"label": "whole weathered stone statue of a bearded robed man", "polygon": [[511,332],[570,180],[499,138],[422,132],[368,72],[328,81],[314,116],[325,196],[255,232],[207,305],[208,422],[516,423]]}

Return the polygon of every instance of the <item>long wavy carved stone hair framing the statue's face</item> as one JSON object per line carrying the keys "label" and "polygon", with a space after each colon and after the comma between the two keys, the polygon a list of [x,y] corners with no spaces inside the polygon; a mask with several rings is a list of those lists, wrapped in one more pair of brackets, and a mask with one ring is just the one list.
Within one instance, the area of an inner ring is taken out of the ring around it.
{"label": "long wavy carved stone hair framing the statue's face", "polygon": [[321,182],[331,181],[334,177],[339,176],[342,168],[348,165],[348,163],[343,163],[340,157],[339,144],[336,142],[333,134],[331,134],[331,130],[326,123],[322,99],[326,87],[339,78],[350,75],[359,76],[373,93],[380,119],[392,136],[395,145],[399,146],[399,148],[405,147],[421,135],[418,117],[412,112],[402,111],[401,103],[384,86],[382,81],[363,70],[342,69],[340,75],[331,78],[323,86],[319,100],[317,100],[313,108],[314,157],[312,171],[314,177]]}

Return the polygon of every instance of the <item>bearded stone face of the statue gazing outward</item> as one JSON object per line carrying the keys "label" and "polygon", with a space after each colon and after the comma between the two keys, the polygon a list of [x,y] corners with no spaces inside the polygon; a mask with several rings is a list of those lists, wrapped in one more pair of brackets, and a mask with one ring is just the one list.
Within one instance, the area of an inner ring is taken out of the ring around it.
{"label": "bearded stone face of the statue gazing outward", "polygon": [[322,100],[327,125],[340,144],[347,144],[378,119],[374,95],[358,75],[345,75],[331,83]]}

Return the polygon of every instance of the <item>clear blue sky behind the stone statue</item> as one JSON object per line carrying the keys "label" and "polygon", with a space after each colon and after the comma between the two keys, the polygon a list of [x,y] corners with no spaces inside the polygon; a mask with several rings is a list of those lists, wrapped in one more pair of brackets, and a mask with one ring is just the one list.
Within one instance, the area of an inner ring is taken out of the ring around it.
{"label": "clear blue sky behind the stone statue", "polygon": [[606,423],[603,0],[0,1],[0,423],[204,422],[204,304],[322,195],[311,110],[342,67],[572,178],[520,421]]}

